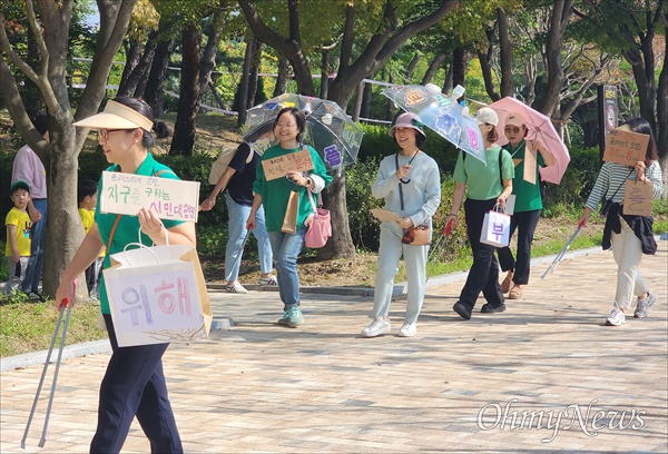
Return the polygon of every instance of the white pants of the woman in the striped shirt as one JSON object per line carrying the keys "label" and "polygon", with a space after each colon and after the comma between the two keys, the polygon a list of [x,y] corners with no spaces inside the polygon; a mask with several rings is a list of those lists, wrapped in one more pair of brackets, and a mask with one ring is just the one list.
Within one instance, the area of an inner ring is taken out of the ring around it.
{"label": "white pants of the woman in the striped shirt", "polygon": [[615,307],[628,309],[631,307],[635,296],[647,293],[647,286],[638,270],[642,258],[642,244],[621,217],[621,231],[612,231],[612,256],[617,263],[617,293],[615,295]]}

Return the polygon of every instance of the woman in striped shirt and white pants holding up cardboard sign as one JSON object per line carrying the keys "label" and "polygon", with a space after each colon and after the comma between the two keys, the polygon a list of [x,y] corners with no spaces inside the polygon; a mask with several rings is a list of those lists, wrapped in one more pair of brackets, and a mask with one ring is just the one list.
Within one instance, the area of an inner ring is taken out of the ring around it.
{"label": "woman in striped shirt and white pants holding up cardboard sign", "polygon": [[657,251],[657,243],[652,234],[654,219],[651,216],[623,214],[626,182],[633,180],[648,182],[652,186],[655,199],[664,194],[657,145],[649,122],[644,118],[633,118],[619,129],[649,136],[645,159],[636,162],[633,167],[617,162],[603,162],[579,223],[580,226],[587,224],[589,215],[598,207],[601,198],[605,198],[607,205],[610,203],[603,228],[602,247],[609,249],[612,246],[612,256],[617,263],[617,292],[612,312],[606,320],[606,325],[609,326],[619,326],[626,323],[626,312],[631,308],[633,295],[637,297],[633,314],[636,318],[647,317],[649,306],[656,300],[638,270],[642,254],[656,254]]}

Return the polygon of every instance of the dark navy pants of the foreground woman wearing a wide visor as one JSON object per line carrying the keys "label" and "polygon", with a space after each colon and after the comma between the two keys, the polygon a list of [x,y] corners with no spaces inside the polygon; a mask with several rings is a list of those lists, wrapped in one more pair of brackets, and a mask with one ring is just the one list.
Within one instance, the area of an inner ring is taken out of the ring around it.
{"label": "dark navy pants of the foreground woman wearing a wide visor", "polygon": [[169,344],[119,347],[111,316],[105,314],[114,354],[100,385],[98,426],[91,453],[118,453],[135,416],[153,453],[183,453],[163,373]]}

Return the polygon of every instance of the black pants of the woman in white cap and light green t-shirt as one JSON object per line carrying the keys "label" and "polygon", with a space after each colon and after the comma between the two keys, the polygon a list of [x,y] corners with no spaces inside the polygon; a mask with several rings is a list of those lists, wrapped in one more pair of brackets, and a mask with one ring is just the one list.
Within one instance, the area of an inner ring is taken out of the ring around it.
{"label": "black pants of the woman in white cap and light green t-shirt", "polygon": [[470,309],[475,306],[481,292],[484,299],[493,307],[502,305],[504,300],[499,285],[499,263],[494,256],[497,247],[480,243],[484,214],[494,208],[495,204],[495,198],[489,200],[468,198],[464,201],[466,233],[473,250],[473,265],[469,272],[469,277],[466,277],[466,284],[464,284],[464,288],[460,294],[460,303]]}

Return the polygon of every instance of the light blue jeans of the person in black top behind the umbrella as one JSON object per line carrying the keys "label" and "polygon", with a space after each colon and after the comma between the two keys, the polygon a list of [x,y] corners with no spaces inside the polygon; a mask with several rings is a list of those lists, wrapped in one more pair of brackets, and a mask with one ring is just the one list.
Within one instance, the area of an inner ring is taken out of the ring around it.
{"label": "light blue jeans of the person in black top behind the umbrella", "polygon": [[[239,205],[229,197],[225,196],[227,201],[227,213],[229,220],[227,223],[227,231],[229,239],[225,246],[225,280],[228,283],[239,278],[239,268],[242,266],[242,257],[244,255],[244,245],[248,230],[246,229],[246,220],[250,214],[250,207]],[[252,230],[257,239],[257,254],[259,255],[259,272],[262,274],[272,273],[272,245],[269,244],[269,235],[265,228],[264,208],[259,207],[255,215],[255,228]]]}

